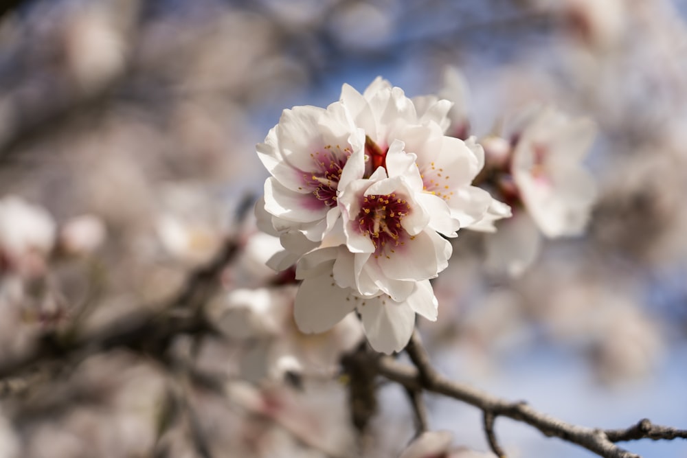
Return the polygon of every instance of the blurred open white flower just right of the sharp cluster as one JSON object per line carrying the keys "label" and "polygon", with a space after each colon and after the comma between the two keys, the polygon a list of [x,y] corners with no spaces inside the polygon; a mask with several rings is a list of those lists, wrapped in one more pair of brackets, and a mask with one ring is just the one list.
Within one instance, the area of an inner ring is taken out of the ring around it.
{"label": "blurred open white flower just right of the sharp cluster", "polygon": [[523,119],[512,173],[523,203],[549,238],[577,236],[589,218],[596,185],[581,165],[595,129],[589,119],[568,119],[543,108]]}

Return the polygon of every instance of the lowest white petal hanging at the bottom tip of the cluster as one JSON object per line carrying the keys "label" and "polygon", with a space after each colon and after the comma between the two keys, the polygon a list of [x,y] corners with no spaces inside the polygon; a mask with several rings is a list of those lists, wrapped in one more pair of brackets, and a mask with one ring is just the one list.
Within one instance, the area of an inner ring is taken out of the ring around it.
{"label": "lowest white petal hanging at the bottom tip of the cluster", "polygon": [[365,336],[372,348],[386,354],[403,350],[415,325],[415,312],[412,308],[407,304],[394,302],[387,295],[356,302]]}

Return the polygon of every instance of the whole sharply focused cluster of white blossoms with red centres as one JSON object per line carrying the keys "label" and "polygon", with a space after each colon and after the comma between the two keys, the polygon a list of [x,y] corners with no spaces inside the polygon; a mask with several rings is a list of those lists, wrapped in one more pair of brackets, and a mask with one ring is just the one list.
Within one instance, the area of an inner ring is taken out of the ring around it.
{"label": "whole sharply focused cluster of white blossoms with red centres", "polygon": [[[447,267],[447,238],[494,220],[475,141],[446,135],[451,102],[405,93],[377,78],[363,93],[344,84],[326,108],[284,110],[258,156],[271,176],[256,214],[280,237],[276,270],[303,282],[295,321],[323,332],[356,310],[375,350],[401,350],[415,314],[435,320],[429,279]],[[508,216],[508,211],[502,216]]]}

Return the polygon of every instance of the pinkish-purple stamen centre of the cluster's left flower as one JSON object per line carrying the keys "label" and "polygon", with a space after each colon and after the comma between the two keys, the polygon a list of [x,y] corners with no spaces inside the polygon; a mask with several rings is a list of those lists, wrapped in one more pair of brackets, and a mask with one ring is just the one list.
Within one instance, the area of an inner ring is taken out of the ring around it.
{"label": "pinkish-purple stamen centre of the cluster's left flower", "polygon": [[339,179],[341,179],[343,166],[346,165],[350,156],[350,149],[341,150],[337,146],[334,151],[331,145],[325,146],[324,149],[324,151],[311,154],[315,161],[315,171],[310,176],[304,175],[303,178],[308,187],[313,190],[317,200],[332,207],[337,204]]}

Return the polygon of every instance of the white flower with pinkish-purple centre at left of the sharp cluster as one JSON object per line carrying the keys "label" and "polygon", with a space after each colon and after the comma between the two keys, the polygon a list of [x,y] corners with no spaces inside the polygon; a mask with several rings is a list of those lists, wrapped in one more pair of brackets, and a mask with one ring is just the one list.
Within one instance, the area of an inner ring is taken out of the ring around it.
{"label": "white flower with pinkish-purple centre at left of the sharp cluster", "polygon": [[346,181],[344,166],[364,144],[363,133],[339,103],[284,110],[257,147],[272,175],[264,183],[264,211],[273,217],[276,233],[301,231],[309,240],[322,240],[340,214],[337,190]]}

